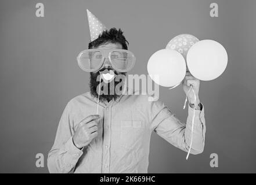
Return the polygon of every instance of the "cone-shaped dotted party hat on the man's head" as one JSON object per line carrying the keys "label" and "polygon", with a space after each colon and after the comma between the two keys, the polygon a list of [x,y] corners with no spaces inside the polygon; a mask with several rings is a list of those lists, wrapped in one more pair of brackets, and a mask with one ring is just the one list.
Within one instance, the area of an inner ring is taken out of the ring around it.
{"label": "cone-shaped dotted party hat on the man's head", "polygon": [[100,34],[104,30],[106,30],[106,26],[89,10],[87,11],[87,17],[89,22],[90,34],[91,34],[91,42],[98,38]]}

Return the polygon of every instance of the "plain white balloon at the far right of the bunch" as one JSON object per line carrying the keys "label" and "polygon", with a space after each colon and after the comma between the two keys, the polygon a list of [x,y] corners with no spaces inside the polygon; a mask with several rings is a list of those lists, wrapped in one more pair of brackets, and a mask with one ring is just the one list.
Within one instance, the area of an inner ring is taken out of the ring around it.
{"label": "plain white balloon at the far right of the bunch", "polygon": [[195,43],[187,54],[190,73],[199,80],[214,80],[226,69],[228,54],[225,48],[214,40]]}

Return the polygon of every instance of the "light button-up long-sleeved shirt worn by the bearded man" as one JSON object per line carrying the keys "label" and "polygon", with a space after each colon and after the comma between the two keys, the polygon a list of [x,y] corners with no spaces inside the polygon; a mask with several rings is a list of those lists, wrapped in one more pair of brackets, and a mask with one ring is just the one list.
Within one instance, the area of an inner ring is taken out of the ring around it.
{"label": "light button-up long-sleeved shirt worn by the bearded man", "polygon": [[194,117],[191,154],[204,149],[204,106],[188,106],[188,119],[182,123],[161,101],[147,95],[121,95],[99,102],[98,136],[81,150],[73,143],[76,125],[96,114],[97,98],[90,92],[71,99],[63,111],[55,142],[48,154],[50,173],[147,173],[152,131],[181,150],[188,151]]}

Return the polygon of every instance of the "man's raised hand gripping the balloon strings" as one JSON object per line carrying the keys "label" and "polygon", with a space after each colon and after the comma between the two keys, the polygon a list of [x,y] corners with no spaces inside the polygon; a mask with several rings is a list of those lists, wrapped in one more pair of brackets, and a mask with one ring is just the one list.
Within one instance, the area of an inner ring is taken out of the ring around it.
{"label": "man's raised hand gripping the balloon strings", "polygon": [[[191,104],[199,105],[199,87],[200,87],[200,80],[196,79],[194,76],[191,75],[190,72],[186,72],[186,76],[182,81],[183,91],[185,94],[188,94],[188,101]],[[190,86],[193,87],[193,90],[190,89]],[[190,89],[190,91],[189,91]],[[194,98],[194,93],[196,95],[196,99]]]}

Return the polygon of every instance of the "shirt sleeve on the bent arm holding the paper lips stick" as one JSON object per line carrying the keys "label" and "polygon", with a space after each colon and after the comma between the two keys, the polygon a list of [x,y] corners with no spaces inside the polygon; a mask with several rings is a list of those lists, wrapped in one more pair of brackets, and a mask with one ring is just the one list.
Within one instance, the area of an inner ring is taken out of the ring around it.
{"label": "shirt sleeve on the bent arm holding the paper lips stick", "polygon": [[56,132],[55,142],[48,153],[47,165],[50,173],[72,173],[82,150],[73,143],[73,122],[69,104],[63,111]]}

